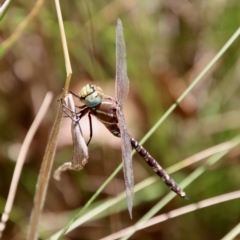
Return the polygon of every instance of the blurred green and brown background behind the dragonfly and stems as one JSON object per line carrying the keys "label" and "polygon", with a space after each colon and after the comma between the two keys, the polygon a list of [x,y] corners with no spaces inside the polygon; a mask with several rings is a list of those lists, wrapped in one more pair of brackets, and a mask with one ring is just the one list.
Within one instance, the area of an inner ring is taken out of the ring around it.
{"label": "blurred green and brown background behind the dragonfly and stems", "polygon": [[[0,25],[0,41],[13,34],[33,8],[32,1],[13,2]],[[114,95],[115,25],[123,22],[130,92],[124,113],[130,134],[141,140],[146,132],[191,84],[239,27],[240,1],[61,1],[73,69],[70,89],[86,83]],[[239,134],[239,39],[174,113],[144,144],[168,167]],[[0,62],[0,209],[7,198],[15,161],[24,137],[47,91],[55,95],[51,108],[31,144],[20,179],[14,210],[3,239],[24,239],[45,146],[66,78],[59,26],[53,1],[37,16]],[[78,103],[79,104],[79,103]],[[54,169],[70,161],[70,120],[62,122]],[[86,140],[88,120],[82,122]],[[240,186],[240,148],[213,165],[186,188],[188,202],[175,198],[162,213]],[[41,230],[53,233],[64,226],[65,212],[83,206],[121,162],[118,139],[94,122],[89,163],[81,172],[66,172],[61,182],[51,178]],[[135,182],[154,173],[137,155]],[[178,182],[201,163],[173,174]],[[98,197],[103,201],[124,191],[122,172]],[[126,202],[109,209],[107,217],[87,222],[66,239],[99,239],[131,226],[169,190],[157,181],[135,196],[133,220]],[[239,200],[168,220],[134,234],[131,239],[220,239],[240,219]],[[115,207],[114,207],[115,209]],[[160,213],[159,213],[160,214]],[[61,218],[62,217],[62,218]]]}

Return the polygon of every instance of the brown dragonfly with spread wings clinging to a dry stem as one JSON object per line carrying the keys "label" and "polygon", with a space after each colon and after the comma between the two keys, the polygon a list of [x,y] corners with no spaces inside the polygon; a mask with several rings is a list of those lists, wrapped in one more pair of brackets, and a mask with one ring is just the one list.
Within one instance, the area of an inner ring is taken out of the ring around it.
{"label": "brown dragonfly with spread wings clinging to a dry stem", "polygon": [[158,164],[158,162],[142,147],[129,133],[125,124],[123,114],[123,103],[129,92],[129,79],[127,76],[126,47],[123,35],[123,27],[120,19],[116,26],[116,78],[115,78],[115,98],[107,96],[102,89],[93,84],[84,86],[79,95],[71,92],[84,105],[76,106],[81,108],[78,112],[79,120],[88,114],[90,123],[90,139],[92,139],[92,119],[97,117],[106,128],[116,137],[121,138],[123,172],[126,187],[127,205],[130,217],[132,218],[132,206],[134,198],[134,177],[132,167],[132,149],[152,167],[154,172],[162,181],[177,195],[186,198],[186,193],[177,185],[177,183],[167,174],[167,172]]}

